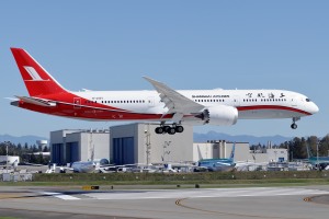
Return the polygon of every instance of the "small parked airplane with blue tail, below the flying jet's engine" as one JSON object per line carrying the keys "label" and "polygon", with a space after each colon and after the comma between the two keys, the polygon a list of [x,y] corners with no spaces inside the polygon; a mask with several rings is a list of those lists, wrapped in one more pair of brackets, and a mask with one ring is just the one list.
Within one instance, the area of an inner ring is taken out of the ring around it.
{"label": "small parked airplane with blue tail, below the flying jet's engine", "polygon": [[232,171],[236,166],[235,162],[236,143],[234,143],[228,159],[202,159],[197,162],[197,166],[207,171]]}

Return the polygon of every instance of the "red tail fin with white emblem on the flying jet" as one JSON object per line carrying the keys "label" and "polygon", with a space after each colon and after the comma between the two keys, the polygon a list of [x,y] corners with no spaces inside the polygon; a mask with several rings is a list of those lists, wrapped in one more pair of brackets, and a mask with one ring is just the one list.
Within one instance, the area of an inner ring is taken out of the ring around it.
{"label": "red tail fin with white emblem on the flying jet", "polygon": [[67,92],[27,51],[11,48],[31,96]]}

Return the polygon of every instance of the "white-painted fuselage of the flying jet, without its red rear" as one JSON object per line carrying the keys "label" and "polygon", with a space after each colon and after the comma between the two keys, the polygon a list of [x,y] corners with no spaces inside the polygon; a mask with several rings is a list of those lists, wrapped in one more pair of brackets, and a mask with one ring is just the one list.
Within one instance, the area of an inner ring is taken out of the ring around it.
{"label": "white-painted fuselage of the flying jet, without its red rear", "polygon": [[[239,119],[298,118],[318,112],[305,95],[284,90],[179,90],[206,107],[227,105],[238,110]],[[137,114],[166,114],[168,108],[156,91],[72,92],[92,102]],[[83,103],[81,103],[83,105]]]}

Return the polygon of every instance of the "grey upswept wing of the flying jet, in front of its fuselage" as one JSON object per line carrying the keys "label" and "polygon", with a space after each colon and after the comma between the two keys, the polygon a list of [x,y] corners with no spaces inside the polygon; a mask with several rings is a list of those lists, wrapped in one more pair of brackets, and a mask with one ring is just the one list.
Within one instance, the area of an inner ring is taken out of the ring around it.
{"label": "grey upswept wing of the flying jet, in front of its fuselage", "polygon": [[161,101],[164,103],[166,107],[169,108],[167,114],[174,114],[172,118],[173,122],[180,122],[183,115],[200,113],[200,111],[204,108],[204,105],[195,103],[194,101],[169,88],[164,83],[147,77],[143,78],[150,82],[158,91]]}

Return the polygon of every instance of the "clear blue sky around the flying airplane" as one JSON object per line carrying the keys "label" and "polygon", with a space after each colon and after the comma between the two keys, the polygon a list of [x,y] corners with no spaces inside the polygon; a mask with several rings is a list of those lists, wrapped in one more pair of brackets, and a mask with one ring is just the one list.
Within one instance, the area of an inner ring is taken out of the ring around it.
{"label": "clear blue sky around the flying airplane", "polygon": [[198,126],[228,135],[324,137],[329,132],[329,2],[304,0],[58,0],[0,5],[0,135],[49,137],[69,128],[109,128],[10,105],[27,95],[10,47],[26,49],[71,91],[280,89],[320,108],[291,119]]}

